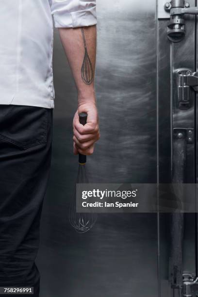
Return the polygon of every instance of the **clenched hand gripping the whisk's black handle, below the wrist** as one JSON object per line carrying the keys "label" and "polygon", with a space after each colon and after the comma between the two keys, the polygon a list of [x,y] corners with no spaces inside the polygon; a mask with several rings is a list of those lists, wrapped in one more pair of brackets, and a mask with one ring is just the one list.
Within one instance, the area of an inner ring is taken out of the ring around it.
{"label": "clenched hand gripping the whisk's black handle, below the wrist", "polygon": [[[87,113],[87,123],[84,126],[79,122],[80,113]],[[79,106],[73,119],[73,133],[74,154],[93,154],[95,142],[100,137],[98,111],[95,103],[83,103]]]}

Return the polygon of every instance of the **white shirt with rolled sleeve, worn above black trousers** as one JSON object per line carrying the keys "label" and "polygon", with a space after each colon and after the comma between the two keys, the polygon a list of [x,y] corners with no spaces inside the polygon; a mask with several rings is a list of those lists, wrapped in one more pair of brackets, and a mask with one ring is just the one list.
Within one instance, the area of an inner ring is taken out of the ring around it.
{"label": "white shirt with rolled sleeve, worn above black trousers", "polygon": [[0,104],[54,108],[53,20],[95,25],[96,0],[0,0]]}

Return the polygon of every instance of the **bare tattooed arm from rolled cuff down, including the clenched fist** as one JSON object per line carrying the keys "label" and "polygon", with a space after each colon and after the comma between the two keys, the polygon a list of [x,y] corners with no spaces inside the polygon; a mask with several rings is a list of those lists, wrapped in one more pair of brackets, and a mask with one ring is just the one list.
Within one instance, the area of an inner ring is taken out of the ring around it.
{"label": "bare tattooed arm from rolled cuff down, including the clenched fist", "polygon": [[[99,119],[94,90],[96,64],[96,26],[60,28],[61,41],[78,90],[78,109],[73,120],[74,153],[89,155],[99,139]],[[79,113],[87,113],[85,126]]]}

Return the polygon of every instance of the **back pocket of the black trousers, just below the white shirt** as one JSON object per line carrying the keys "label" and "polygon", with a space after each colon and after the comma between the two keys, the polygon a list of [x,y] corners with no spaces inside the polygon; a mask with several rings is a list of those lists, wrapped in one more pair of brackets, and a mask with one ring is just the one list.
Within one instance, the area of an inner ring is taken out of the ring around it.
{"label": "back pocket of the black trousers, just below the white shirt", "polygon": [[20,149],[46,143],[46,108],[0,105],[0,140],[9,142]]}

